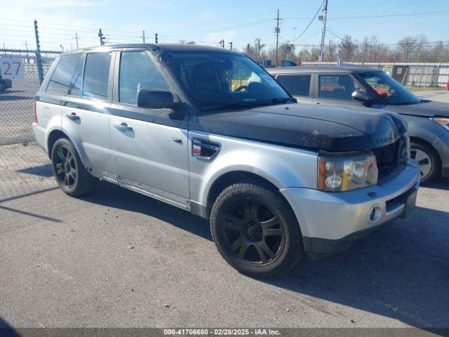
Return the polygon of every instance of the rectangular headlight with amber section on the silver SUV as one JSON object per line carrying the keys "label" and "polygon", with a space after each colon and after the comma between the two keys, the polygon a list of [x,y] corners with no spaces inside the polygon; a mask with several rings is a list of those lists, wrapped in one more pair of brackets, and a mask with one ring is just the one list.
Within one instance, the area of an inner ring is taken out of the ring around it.
{"label": "rectangular headlight with amber section on the silver SUV", "polygon": [[318,189],[342,192],[377,184],[374,154],[321,155],[318,159]]}

